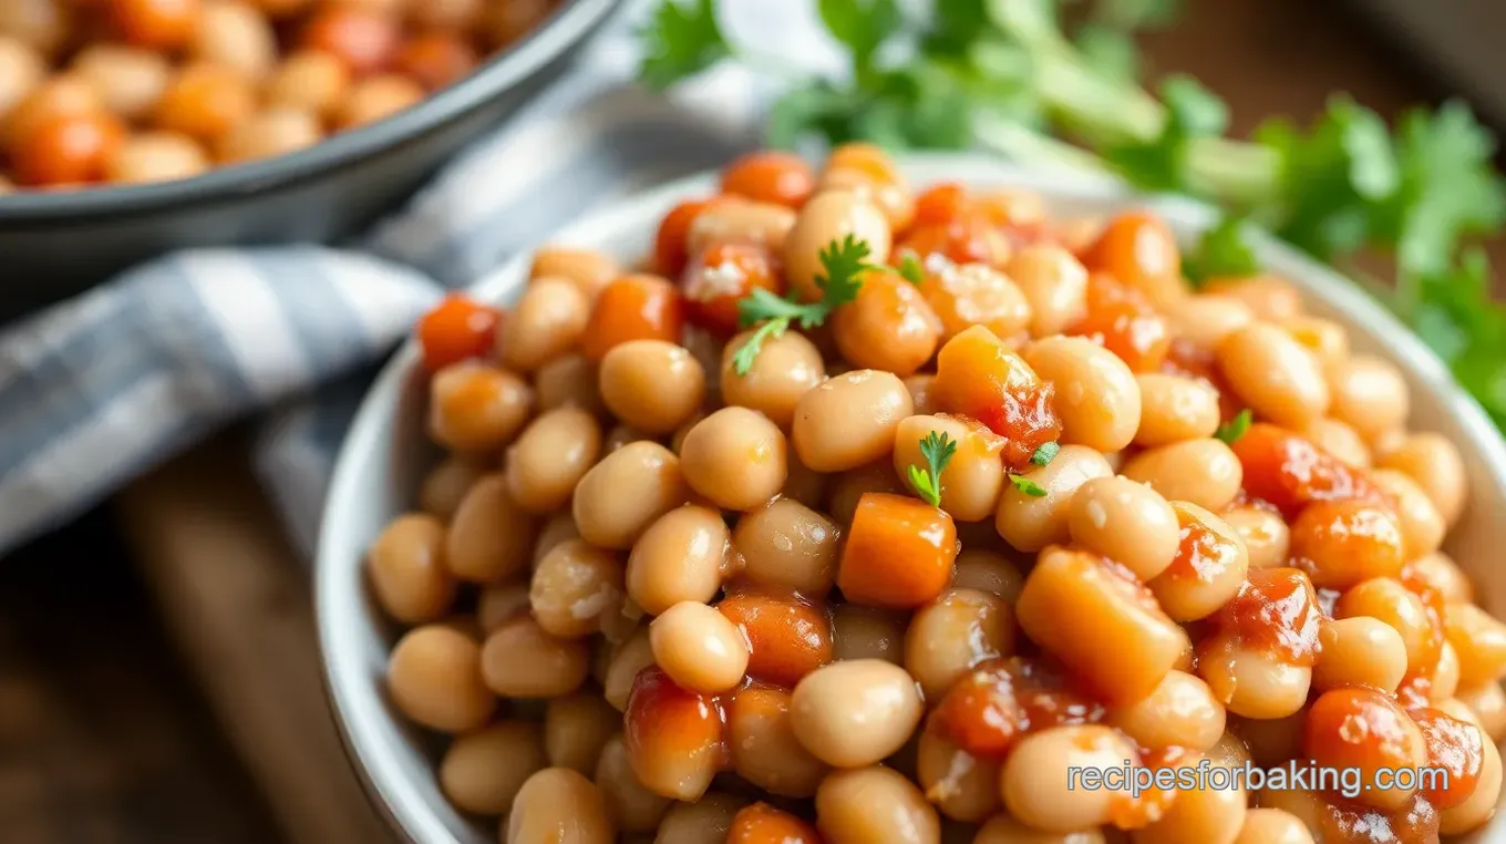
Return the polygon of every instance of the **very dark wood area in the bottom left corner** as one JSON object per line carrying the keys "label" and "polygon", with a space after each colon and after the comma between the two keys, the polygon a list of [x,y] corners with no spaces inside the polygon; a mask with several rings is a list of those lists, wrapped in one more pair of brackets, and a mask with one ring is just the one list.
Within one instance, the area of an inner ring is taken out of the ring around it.
{"label": "very dark wood area in the bottom left corner", "polygon": [[0,841],[267,844],[108,512],[0,561]]}

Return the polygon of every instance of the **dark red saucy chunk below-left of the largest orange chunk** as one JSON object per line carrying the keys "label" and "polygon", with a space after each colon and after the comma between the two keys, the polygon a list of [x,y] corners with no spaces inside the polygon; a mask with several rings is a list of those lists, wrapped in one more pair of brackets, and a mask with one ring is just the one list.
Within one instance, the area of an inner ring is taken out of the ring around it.
{"label": "dark red saucy chunk below-left of the largest orange chunk", "polygon": [[998,758],[1036,729],[1096,723],[1104,707],[1065,674],[1021,657],[988,660],[962,675],[941,702],[938,726],[974,757]]}

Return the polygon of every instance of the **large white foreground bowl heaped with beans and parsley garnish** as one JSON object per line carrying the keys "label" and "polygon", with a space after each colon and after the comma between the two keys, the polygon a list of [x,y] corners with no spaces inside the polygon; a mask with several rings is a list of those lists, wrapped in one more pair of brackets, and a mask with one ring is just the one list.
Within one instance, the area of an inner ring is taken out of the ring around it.
{"label": "large white foreground bowl heaped with beans and parsley garnish", "polygon": [[426,315],[321,538],[422,844],[1489,838],[1500,434],[1330,270],[971,157],[758,152]]}

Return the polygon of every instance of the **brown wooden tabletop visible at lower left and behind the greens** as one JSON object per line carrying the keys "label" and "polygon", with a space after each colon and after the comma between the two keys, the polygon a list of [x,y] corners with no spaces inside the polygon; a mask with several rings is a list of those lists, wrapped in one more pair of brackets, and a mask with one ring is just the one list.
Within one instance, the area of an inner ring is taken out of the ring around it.
{"label": "brown wooden tabletop visible at lower left and behind the greens", "polygon": [[[1273,113],[1306,121],[1334,90],[1387,115],[1440,93],[1337,3],[1187,2],[1182,26],[1148,38],[1154,68],[1193,72],[1221,92],[1236,131]],[[176,653],[282,838],[381,844],[384,827],[321,689],[307,570],[282,541],[244,454],[239,439],[221,437],[136,484],[119,515]],[[101,571],[104,562],[48,565],[134,582]],[[277,841],[200,702],[172,692],[178,674],[143,621],[148,598],[125,586],[116,598],[131,612],[104,598],[80,604],[68,577],[38,585],[3,571],[3,841]]]}

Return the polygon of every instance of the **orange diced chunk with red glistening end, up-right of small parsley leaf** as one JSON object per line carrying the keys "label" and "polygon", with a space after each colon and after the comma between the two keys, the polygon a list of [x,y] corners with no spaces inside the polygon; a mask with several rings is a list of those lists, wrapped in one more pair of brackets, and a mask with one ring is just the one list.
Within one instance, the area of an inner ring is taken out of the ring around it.
{"label": "orange diced chunk with red glistening end, up-right of small parsley leaf", "polygon": [[1038,448],[1062,436],[1053,396],[1053,386],[982,326],[941,347],[931,381],[938,410],[971,416],[1009,440],[1003,460],[1015,472],[1030,464]]}

